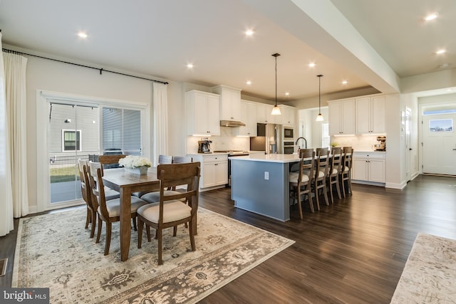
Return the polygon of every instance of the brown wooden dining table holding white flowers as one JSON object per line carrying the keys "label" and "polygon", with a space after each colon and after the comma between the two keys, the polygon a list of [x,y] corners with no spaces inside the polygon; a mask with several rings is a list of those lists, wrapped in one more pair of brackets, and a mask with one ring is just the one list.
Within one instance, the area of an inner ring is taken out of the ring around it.
{"label": "brown wooden dining table holding white flowers", "polygon": [[131,239],[131,195],[134,192],[160,191],[157,167],[149,167],[144,175],[123,168],[104,169],[103,184],[120,193],[120,260],[127,261]]}

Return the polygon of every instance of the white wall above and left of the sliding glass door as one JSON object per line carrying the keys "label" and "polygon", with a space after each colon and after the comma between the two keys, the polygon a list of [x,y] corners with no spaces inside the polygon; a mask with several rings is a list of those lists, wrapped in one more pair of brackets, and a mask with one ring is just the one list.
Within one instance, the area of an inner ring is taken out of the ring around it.
{"label": "white wall above and left of the sliding glass door", "polygon": [[[49,90],[150,104],[152,83],[149,80],[140,80],[108,72],[100,75],[98,70],[32,56],[28,56],[26,74],[27,120],[24,124],[27,125],[28,201],[30,210],[33,212],[37,206],[37,179],[41,178],[37,172],[37,162],[41,160],[36,159],[36,125],[41,123],[36,118],[36,91]],[[146,149],[150,152],[151,147],[145,147]]]}

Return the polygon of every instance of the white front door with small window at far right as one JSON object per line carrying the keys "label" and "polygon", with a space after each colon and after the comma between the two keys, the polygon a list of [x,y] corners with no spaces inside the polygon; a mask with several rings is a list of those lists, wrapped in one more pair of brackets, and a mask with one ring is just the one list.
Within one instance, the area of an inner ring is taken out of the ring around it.
{"label": "white front door with small window at far right", "polygon": [[456,113],[423,115],[423,173],[456,175]]}

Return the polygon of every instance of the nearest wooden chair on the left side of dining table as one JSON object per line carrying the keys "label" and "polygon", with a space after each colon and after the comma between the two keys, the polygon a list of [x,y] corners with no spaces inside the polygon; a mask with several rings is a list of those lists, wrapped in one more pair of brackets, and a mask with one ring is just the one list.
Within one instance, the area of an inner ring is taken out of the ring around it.
{"label": "nearest wooden chair on the left side of dining table", "polygon": [[[109,253],[109,246],[111,242],[111,230],[112,223],[120,221],[120,198],[107,200],[105,197],[105,187],[102,179],[102,164],[100,162],[89,162],[89,184],[92,190],[93,196],[98,203],[98,234],[96,243],[100,242],[101,229],[103,221],[106,222],[106,243],[105,243],[105,256]],[[136,226],[136,211],[140,206],[146,205],[147,203],[142,199],[131,196],[131,219],[135,231]]]}

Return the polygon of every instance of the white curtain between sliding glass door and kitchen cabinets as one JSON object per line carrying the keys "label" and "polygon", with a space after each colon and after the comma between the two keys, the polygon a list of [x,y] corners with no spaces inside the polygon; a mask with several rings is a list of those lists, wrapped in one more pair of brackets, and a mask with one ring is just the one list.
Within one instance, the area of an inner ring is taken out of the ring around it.
{"label": "white curtain between sliding glass door and kitchen cabinets", "polygon": [[153,164],[157,166],[158,155],[168,154],[168,98],[167,85],[153,83]]}

